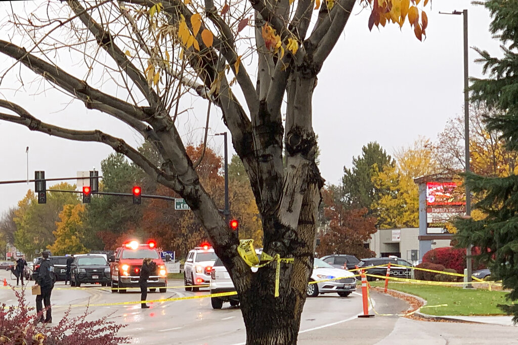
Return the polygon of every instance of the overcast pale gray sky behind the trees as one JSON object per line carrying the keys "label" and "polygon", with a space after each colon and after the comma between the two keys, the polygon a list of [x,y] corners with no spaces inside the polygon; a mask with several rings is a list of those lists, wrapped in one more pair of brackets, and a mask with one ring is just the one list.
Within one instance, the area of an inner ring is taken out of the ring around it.
{"label": "overcast pale gray sky behind the trees", "polygon": [[[322,68],[313,96],[320,168],[329,183],[339,183],[343,166],[350,167],[352,157],[360,154],[367,142],[378,141],[392,153],[418,136],[435,140],[446,121],[462,112],[463,18],[439,15],[439,11],[467,8],[469,45],[500,54],[498,41],[488,32],[489,14],[482,6],[471,5],[470,0],[432,0],[431,6],[425,9],[429,24],[423,42],[414,37],[408,23],[402,30],[392,24],[369,32],[368,11],[356,7],[342,39]],[[0,5],[0,13],[8,9],[7,4]],[[6,32],[0,37],[9,39]],[[470,50],[469,74],[480,77],[481,66],[473,62],[476,57],[476,52]],[[0,69],[9,63],[0,56]],[[24,90],[13,92],[10,88],[20,84],[16,80],[19,70],[11,71],[12,80],[1,85],[0,96],[46,122],[79,129],[98,128],[132,145],[140,143],[138,136],[121,122],[87,111],[80,102],[69,103],[69,97],[62,93],[49,90],[35,94],[38,85],[30,84],[34,79],[31,73],[22,73]],[[180,122],[179,131],[186,141],[197,143],[201,138],[205,111],[205,106],[197,107],[195,103],[194,113]],[[211,132],[224,129],[221,116],[212,116]],[[210,138],[209,145],[223,153],[221,137]],[[100,161],[112,152],[100,143],[69,141],[0,122],[0,181],[26,178],[27,146],[30,178],[34,178],[34,170],[45,170],[47,178],[54,178],[74,177],[78,170],[100,169]],[[17,205],[28,189],[34,189],[34,183],[0,185],[0,213]]]}

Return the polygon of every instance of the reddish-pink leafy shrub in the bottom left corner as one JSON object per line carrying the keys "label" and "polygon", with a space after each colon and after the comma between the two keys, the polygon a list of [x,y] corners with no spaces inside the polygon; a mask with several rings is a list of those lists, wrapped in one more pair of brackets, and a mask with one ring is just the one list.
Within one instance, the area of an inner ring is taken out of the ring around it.
{"label": "reddish-pink leafy shrub in the bottom left corner", "polygon": [[[0,345],[117,345],[128,343],[128,337],[117,337],[126,325],[108,321],[109,315],[87,321],[87,309],[78,317],[70,317],[70,309],[57,324],[37,323],[41,313],[29,307],[24,290],[16,291],[18,306],[0,305]],[[43,310],[45,312],[45,309]]]}

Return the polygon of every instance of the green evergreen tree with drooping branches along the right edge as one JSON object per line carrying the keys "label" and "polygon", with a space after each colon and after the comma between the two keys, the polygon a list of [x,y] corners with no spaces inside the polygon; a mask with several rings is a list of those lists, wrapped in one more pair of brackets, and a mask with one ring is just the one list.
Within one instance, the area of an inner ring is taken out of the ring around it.
{"label": "green evergreen tree with drooping branches along the right edge", "polygon": [[[518,149],[518,2],[487,0],[479,3],[490,10],[490,31],[502,41],[503,57],[477,49],[487,79],[472,79],[472,99],[498,111],[486,119],[488,130],[502,133],[507,148]],[[480,199],[474,205],[487,214],[480,221],[457,221],[459,245],[482,249],[492,276],[511,289],[509,300],[518,300],[518,176],[487,178],[468,174],[466,182]],[[518,305],[501,306],[518,321]]]}

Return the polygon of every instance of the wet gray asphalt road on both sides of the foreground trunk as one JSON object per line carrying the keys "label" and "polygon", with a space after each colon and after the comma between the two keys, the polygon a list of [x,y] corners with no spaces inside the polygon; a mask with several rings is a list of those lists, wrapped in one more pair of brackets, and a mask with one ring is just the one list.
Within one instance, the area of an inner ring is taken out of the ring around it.
{"label": "wet gray asphalt road on both sides of the foreground trunk", "polygon": [[[10,280],[9,272],[0,271],[0,280]],[[34,282],[30,282],[33,285]],[[29,286],[30,286],[29,285]],[[208,289],[200,292],[184,291],[181,280],[168,282],[166,293],[148,293],[148,300],[167,299],[185,296],[207,295]],[[27,290],[26,300],[35,306],[35,296]],[[228,303],[220,310],[212,309],[210,298],[196,298],[178,301],[162,301],[149,303],[151,308],[141,309],[140,304],[104,305],[140,300],[138,290],[130,290],[125,294],[111,293],[109,288],[100,285],[81,285],[80,288],[57,282],[52,291],[53,321],[57,322],[70,307],[71,315],[84,313],[87,304],[93,311],[89,318],[99,318],[110,314],[110,320],[127,325],[119,332],[120,336],[128,336],[133,344],[238,344],[246,340],[246,332],[239,307],[231,307]],[[17,304],[16,297],[10,289],[0,289],[0,301],[7,305]],[[361,295],[353,293],[349,297],[337,294],[326,294],[316,298],[308,298],[304,307],[300,330],[311,332],[330,324],[348,319],[356,319],[362,311]]]}

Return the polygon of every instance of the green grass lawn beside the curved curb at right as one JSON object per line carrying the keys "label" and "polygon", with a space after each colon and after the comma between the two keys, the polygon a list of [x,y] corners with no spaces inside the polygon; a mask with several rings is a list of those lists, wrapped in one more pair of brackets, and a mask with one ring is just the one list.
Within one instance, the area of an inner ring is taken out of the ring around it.
{"label": "green grass lawn beside the curved curb at right", "polygon": [[[370,282],[372,286],[384,286],[384,281]],[[419,296],[427,300],[427,306],[447,304],[443,307],[422,308],[430,315],[505,315],[498,304],[508,304],[507,292],[482,289],[465,290],[462,287],[418,285],[389,282],[389,289]]]}

